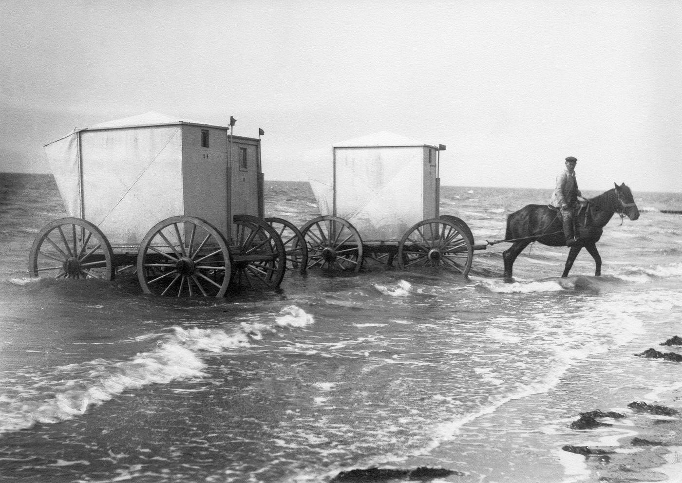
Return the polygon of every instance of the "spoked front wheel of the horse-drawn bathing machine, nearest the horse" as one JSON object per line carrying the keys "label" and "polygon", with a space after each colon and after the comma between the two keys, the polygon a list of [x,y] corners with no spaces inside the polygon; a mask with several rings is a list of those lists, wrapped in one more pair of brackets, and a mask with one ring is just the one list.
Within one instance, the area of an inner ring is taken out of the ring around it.
{"label": "spoked front wheel of the horse-drawn bathing machine, nearest the horse", "polygon": [[400,240],[400,268],[440,267],[469,275],[473,248],[462,228],[447,219],[419,221]]}

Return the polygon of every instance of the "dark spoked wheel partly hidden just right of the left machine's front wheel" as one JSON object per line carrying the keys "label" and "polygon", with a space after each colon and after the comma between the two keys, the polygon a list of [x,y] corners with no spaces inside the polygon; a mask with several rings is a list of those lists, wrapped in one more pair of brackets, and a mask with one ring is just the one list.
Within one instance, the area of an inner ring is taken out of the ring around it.
{"label": "dark spoked wheel partly hidden just right of the left machine's front wheel", "polygon": [[245,288],[279,287],[286,269],[286,249],[280,235],[258,217],[235,215],[233,221],[233,285]]}

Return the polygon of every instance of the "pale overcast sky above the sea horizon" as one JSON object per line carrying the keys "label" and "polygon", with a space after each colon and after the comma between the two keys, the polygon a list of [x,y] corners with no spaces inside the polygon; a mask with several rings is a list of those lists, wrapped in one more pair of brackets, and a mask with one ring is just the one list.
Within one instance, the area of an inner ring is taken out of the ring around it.
{"label": "pale overcast sky above the sea horizon", "polygon": [[157,111],[263,137],[266,179],[376,131],[446,144],[441,183],[682,191],[682,2],[0,1],[0,171]]}

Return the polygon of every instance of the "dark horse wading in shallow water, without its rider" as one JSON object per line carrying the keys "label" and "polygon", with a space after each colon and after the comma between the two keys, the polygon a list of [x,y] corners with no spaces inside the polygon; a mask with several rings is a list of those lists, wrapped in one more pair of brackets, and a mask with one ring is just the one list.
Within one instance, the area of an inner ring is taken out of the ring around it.
{"label": "dark horse wading in shallow water, without its rider", "polygon": [[[613,183],[614,188],[605,191],[595,198],[590,198],[587,208],[581,209],[574,216],[575,234],[578,242],[571,247],[563,269],[562,278],[568,277],[578,253],[585,247],[595,260],[595,277],[602,275],[602,258],[597,251],[597,242],[602,237],[604,225],[614,213],[621,219],[627,216],[631,220],[639,218],[637,204],[632,198],[632,191],[622,183]],[[514,260],[529,243],[538,241],[549,247],[565,247],[561,215],[550,206],[529,204],[507,217],[505,240],[513,244],[502,253],[505,262],[505,279],[511,279]]]}

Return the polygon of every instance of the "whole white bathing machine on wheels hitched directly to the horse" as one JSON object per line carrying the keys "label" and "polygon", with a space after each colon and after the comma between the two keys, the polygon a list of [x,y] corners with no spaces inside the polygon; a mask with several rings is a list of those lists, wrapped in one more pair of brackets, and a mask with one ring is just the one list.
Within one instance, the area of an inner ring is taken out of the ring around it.
{"label": "whole white bathing machine on wheels hitched directly to the horse", "polygon": [[359,270],[372,259],[466,276],[473,251],[486,245],[474,245],[462,219],[439,213],[444,150],[384,131],[312,153],[318,169],[310,185],[321,214],[300,230],[308,268]]}

